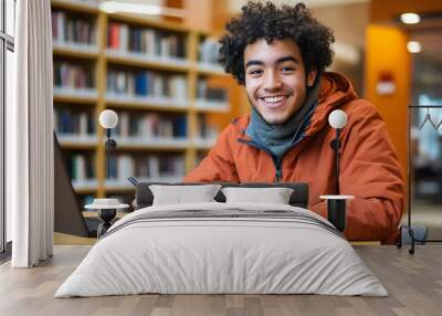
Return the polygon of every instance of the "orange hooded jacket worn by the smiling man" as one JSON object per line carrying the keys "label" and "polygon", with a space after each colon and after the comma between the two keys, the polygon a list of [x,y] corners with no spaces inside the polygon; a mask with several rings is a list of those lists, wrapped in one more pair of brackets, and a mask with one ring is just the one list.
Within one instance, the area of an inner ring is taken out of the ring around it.
{"label": "orange hooded jacket worn by the smiling man", "polygon": [[[398,235],[403,208],[400,165],[385,123],[369,102],[357,98],[350,82],[337,73],[324,73],[319,104],[305,130],[305,138],[290,149],[282,162],[282,182],[307,182],[309,209],[327,217],[322,194],[334,193],[336,133],[328,114],[343,109],[348,123],[340,133],[341,194],[348,202],[345,234],[349,240],[378,240],[391,243]],[[275,166],[264,150],[241,143],[250,115],[234,119],[219,136],[208,156],[185,181],[274,182]]]}

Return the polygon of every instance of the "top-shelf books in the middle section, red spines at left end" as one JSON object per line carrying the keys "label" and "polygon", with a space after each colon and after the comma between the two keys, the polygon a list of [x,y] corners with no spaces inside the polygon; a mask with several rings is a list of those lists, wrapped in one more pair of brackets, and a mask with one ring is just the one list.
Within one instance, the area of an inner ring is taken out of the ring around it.
{"label": "top-shelf books in the middle section, red spines at left end", "polygon": [[182,35],[117,22],[109,23],[107,48],[120,52],[186,57],[186,43]]}

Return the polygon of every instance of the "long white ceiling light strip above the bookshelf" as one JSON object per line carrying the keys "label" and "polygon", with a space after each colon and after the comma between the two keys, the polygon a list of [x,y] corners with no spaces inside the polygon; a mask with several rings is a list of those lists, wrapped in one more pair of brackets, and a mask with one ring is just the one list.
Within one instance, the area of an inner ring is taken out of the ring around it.
{"label": "long white ceiling light strip above the bookshelf", "polygon": [[99,10],[106,13],[136,13],[148,15],[168,15],[176,18],[183,18],[186,10],[164,8],[152,4],[128,3],[119,1],[104,1],[99,4]]}

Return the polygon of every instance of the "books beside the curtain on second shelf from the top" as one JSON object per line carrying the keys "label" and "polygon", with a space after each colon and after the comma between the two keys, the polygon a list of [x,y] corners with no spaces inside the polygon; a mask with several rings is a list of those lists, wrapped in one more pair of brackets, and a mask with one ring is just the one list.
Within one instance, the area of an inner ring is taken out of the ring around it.
{"label": "books beside the curtain on second shelf from the top", "polygon": [[54,85],[70,88],[92,88],[93,72],[87,65],[54,62]]}

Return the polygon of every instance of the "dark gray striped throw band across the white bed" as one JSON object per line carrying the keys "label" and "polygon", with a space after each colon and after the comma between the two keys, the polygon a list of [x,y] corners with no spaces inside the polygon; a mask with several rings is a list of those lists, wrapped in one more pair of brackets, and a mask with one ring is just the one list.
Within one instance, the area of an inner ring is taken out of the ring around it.
{"label": "dark gray striped throw band across the white bed", "polygon": [[244,211],[238,209],[229,209],[229,210],[182,210],[182,211],[151,211],[151,212],[143,212],[133,217],[130,220],[119,224],[116,222],[114,227],[107,231],[101,239],[104,239],[126,227],[129,227],[135,223],[140,222],[159,222],[159,221],[168,221],[168,220],[194,220],[194,221],[212,221],[212,220],[232,220],[232,219],[254,219],[254,220],[292,220],[297,223],[305,223],[315,227],[320,227],[337,236],[344,238],[343,234],[335,229],[333,225],[323,222],[314,217],[308,214],[296,212],[296,211],[286,211],[286,210],[266,210],[266,211]]}

